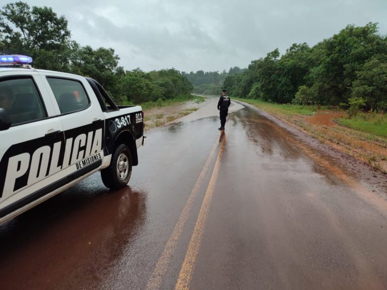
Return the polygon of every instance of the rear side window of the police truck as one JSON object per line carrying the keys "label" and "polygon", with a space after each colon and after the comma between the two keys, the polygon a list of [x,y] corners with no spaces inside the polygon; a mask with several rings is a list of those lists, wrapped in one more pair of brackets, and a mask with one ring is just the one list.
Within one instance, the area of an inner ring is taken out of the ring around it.
{"label": "rear side window of the police truck", "polygon": [[90,100],[82,84],[75,80],[47,77],[61,114],[86,109]]}

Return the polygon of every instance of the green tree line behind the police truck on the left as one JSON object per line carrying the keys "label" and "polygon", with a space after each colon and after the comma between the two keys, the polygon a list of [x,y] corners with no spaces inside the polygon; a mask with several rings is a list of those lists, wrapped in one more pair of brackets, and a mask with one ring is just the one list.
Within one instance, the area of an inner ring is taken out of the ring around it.
{"label": "green tree line behind the police truck on the left", "polygon": [[114,49],[81,46],[71,39],[64,16],[57,16],[52,8],[23,2],[7,4],[0,11],[0,54],[28,55],[35,68],[93,78],[119,103],[189,96],[193,88],[174,68],[125,71],[118,66]]}

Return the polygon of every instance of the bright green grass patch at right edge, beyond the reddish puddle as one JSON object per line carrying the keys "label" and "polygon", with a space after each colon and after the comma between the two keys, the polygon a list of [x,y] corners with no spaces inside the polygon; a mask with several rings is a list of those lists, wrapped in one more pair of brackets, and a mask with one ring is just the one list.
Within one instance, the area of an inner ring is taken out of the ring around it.
{"label": "bright green grass patch at right edge, beyond the reddish puddle", "polygon": [[340,118],[338,123],[362,132],[387,137],[387,115],[362,113],[350,119]]}

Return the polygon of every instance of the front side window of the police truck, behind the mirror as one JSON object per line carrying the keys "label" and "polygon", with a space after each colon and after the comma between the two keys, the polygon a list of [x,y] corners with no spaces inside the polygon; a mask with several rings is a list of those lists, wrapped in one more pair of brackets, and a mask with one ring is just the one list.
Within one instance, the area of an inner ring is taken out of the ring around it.
{"label": "front side window of the police truck, behind the mirror", "polygon": [[47,117],[35,82],[30,77],[0,81],[0,108],[8,112],[12,125]]}

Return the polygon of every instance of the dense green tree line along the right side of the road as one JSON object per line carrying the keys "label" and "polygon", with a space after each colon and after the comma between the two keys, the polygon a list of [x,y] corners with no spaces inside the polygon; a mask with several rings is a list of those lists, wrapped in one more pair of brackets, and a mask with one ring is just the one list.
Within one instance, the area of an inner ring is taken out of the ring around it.
{"label": "dense green tree line along the right side of the road", "polygon": [[251,61],[224,87],[234,97],[274,103],[387,109],[387,37],[377,23],[348,25],[313,47],[293,44]]}

